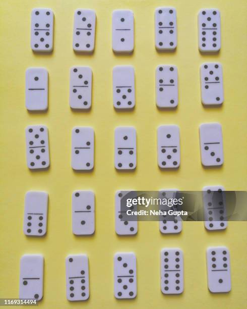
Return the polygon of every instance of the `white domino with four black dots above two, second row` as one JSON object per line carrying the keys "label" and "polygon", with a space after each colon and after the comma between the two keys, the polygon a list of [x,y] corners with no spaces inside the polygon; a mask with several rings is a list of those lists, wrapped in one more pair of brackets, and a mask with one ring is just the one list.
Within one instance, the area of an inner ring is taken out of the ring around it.
{"label": "white domino with four black dots above two, second row", "polygon": [[177,104],[177,67],[174,65],[159,65],[156,68],[156,105],[159,108],[175,108]]}

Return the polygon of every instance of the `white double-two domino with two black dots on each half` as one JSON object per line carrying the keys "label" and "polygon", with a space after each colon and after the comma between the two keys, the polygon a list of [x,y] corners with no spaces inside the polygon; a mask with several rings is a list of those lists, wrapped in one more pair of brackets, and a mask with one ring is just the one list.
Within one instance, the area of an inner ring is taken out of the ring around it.
{"label": "white double-two domino with two black dots on each half", "polygon": [[94,130],[75,127],[72,130],[71,166],[74,170],[92,170],[94,167]]}

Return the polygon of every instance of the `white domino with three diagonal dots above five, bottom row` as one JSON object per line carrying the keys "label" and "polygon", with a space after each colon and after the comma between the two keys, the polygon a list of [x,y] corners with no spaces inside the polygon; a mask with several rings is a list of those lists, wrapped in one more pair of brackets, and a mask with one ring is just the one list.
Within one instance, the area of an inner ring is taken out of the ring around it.
{"label": "white domino with three diagonal dots above five, bottom row", "polygon": [[133,252],[117,252],[114,255],[114,296],[135,298],[136,295],[136,255]]}

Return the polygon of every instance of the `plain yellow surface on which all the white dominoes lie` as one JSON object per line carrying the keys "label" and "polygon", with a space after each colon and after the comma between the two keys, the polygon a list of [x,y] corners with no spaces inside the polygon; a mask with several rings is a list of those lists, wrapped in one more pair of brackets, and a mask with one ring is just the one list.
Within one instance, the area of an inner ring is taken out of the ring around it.
{"label": "plain yellow surface on which all the white dominoes lie", "polygon": [[[154,10],[177,10],[178,47],[174,53],[157,53],[154,47]],[[217,55],[198,50],[197,13],[221,11],[222,48]],[[34,7],[51,8],[55,16],[54,51],[32,53],[30,16]],[[93,55],[77,55],[72,48],[73,15],[78,8],[94,9],[97,15]],[[135,52],[115,56],[111,50],[111,13],[132,9],[135,15]],[[1,256],[0,297],[18,297],[19,261],[24,253],[45,258],[44,297],[40,308],[242,308],[246,302],[246,223],[230,222],[226,231],[207,232],[203,223],[184,223],[180,235],[161,235],[158,222],[141,222],[135,237],[117,237],[114,231],[114,193],[118,189],[201,190],[204,185],[223,185],[227,190],[246,189],[246,1],[159,0],[2,0],[1,18]],[[221,108],[204,108],[200,102],[199,66],[219,61],[223,65],[225,101]],[[176,111],[155,106],[155,68],[178,67],[179,104]],[[93,105],[90,112],[69,107],[69,69],[90,66],[93,70]],[[112,67],[133,65],[136,71],[136,108],[115,112],[112,105]],[[25,70],[49,71],[49,110],[28,113],[25,108]],[[202,122],[222,124],[225,163],[204,169],[200,162],[199,131]],[[48,171],[29,171],[26,166],[27,125],[49,129],[51,166]],[[156,128],[177,124],[181,134],[181,166],[160,171],[157,166]],[[113,131],[116,126],[135,126],[138,164],[135,172],[117,172],[113,164]],[[73,126],[95,130],[95,169],[76,173],[70,166]],[[71,194],[91,189],[96,194],[96,233],[76,237],[71,227]],[[32,238],[23,234],[24,195],[28,190],[49,193],[48,233]],[[207,288],[205,250],[209,245],[230,249],[232,291],[211,294]],[[184,251],[184,293],[164,296],[160,291],[159,253],[165,246]],[[116,300],[113,296],[113,254],[134,251],[137,255],[138,296]],[[66,299],[65,258],[87,253],[90,265],[90,299]]]}

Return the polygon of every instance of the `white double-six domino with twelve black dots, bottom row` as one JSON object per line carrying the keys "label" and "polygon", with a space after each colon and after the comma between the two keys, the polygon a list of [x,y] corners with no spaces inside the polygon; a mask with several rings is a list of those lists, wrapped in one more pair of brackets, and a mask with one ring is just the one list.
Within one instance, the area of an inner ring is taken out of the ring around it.
{"label": "white double-six domino with twelve black dots, bottom row", "polygon": [[164,294],[183,292],[183,252],[178,248],[164,248],[160,253],[160,286]]}

